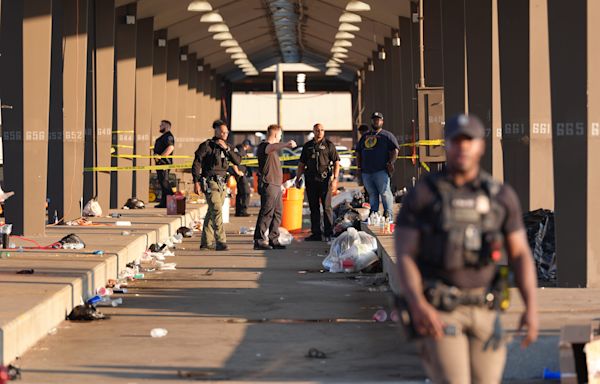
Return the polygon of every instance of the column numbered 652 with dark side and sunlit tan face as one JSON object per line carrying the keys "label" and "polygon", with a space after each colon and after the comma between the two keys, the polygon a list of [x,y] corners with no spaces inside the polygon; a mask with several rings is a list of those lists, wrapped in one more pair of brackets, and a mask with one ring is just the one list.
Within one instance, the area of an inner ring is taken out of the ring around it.
{"label": "column numbered 652 with dark side and sunlit tan face", "polygon": [[53,16],[48,213],[73,220],[83,197],[87,1],[55,1]]}

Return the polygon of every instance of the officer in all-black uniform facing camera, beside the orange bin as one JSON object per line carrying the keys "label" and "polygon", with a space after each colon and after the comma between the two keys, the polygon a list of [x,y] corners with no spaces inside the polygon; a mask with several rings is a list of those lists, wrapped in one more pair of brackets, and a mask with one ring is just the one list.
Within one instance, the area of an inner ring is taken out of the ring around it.
{"label": "officer in all-black uniform facing camera, beside the orange bin", "polygon": [[[301,176],[306,180],[306,195],[310,207],[312,234],[305,241],[329,241],[333,234],[333,209],[331,194],[337,190],[340,174],[340,157],[335,144],[325,138],[322,124],[313,126],[314,138],[304,144],[298,163],[296,187],[300,188]],[[323,232],[321,232],[321,209],[323,206]]]}

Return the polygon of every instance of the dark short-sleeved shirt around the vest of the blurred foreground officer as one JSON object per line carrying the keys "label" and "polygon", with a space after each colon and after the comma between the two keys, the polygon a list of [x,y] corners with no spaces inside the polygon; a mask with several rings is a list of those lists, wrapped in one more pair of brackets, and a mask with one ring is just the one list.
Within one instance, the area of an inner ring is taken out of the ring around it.
{"label": "dark short-sleeved shirt around the vest of the blurred foreground officer", "polygon": [[[435,175],[432,174],[430,176],[433,177]],[[446,177],[447,180],[450,180],[446,172],[443,172],[441,177]],[[459,194],[465,196],[473,195],[483,188],[480,177],[462,186],[456,186],[453,183],[451,185]],[[500,228],[502,234],[506,237],[515,231],[523,229],[521,206],[515,191],[510,186],[503,184],[495,199],[504,208],[505,212]],[[436,204],[441,204],[437,192],[433,191],[425,180],[420,180],[403,199],[402,207],[396,220],[396,227],[416,230],[419,232],[420,237],[423,236],[423,228],[436,225],[433,221],[438,220],[438,218],[432,214]],[[420,239],[419,241],[423,240],[427,241],[427,239]],[[419,250],[417,250],[418,252]],[[458,288],[488,287],[495,274],[494,264],[482,268],[463,267],[453,270],[440,270],[432,269],[425,263],[422,263],[419,255],[415,255],[414,257],[425,280],[439,279],[446,284],[454,285]]]}

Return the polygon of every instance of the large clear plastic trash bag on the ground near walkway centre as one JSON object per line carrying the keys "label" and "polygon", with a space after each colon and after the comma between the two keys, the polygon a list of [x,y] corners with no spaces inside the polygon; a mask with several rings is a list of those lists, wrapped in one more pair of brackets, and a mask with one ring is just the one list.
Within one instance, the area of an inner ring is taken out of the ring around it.
{"label": "large clear plastic trash bag on the ground near walkway centre", "polygon": [[379,261],[377,240],[363,231],[348,228],[331,244],[323,267],[329,272],[359,272]]}

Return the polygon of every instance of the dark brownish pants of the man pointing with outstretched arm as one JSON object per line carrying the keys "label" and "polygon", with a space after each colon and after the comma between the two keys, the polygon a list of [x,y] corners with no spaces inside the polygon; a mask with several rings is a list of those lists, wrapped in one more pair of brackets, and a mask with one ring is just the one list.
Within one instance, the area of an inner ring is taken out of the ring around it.
{"label": "dark brownish pants of the man pointing with outstretched arm", "polygon": [[[254,240],[262,243],[279,242],[279,225],[281,224],[281,214],[283,212],[283,201],[281,186],[277,184],[265,184],[260,188],[260,212],[256,219],[256,229],[254,230]],[[269,237],[265,235],[269,230]]]}

